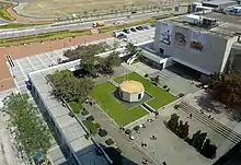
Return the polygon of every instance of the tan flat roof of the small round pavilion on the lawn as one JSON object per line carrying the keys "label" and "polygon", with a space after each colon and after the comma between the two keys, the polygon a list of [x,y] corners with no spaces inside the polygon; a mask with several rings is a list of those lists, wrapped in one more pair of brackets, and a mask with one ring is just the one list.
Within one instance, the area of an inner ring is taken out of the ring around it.
{"label": "tan flat roof of the small round pavilion on the lawn", "polygon": [[138,81],[124,81],[120,85],[119,85],[120,90],[123,92],[127,92],[127,93],[140,93],[144,91],[144,85],[138,82]]}

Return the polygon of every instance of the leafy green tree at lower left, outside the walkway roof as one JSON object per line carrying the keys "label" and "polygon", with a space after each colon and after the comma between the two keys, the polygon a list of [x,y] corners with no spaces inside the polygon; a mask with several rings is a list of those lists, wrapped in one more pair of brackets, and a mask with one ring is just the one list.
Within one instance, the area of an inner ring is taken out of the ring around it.
{"label": "leafy green tree at lower left, outside the walkway roof", "polygon": [[37,115],[37,109],[28,103],[26,94],[11,94],[5,101],[10,125],[14,128],[16,148],[23,150],[27,158],[46,153],[50,148],[50,131]]}

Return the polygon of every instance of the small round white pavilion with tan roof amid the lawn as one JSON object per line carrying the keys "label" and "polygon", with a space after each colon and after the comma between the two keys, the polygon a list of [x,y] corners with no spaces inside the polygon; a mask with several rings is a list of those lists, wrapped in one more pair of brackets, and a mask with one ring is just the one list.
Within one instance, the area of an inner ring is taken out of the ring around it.
{"label": "small round white pavilion with tan roof amid the lawn", "polygon": [[139,102],[145,93],[144,85],[138,81],[124,81],[119,85],[119,97],[126,102]]}

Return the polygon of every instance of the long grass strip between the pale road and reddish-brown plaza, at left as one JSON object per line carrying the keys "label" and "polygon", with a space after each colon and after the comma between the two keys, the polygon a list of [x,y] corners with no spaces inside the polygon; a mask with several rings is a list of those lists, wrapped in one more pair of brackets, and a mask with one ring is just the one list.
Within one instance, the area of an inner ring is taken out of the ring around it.
{"label": "long grass strip between the pale road and reddish-brown plaza, at left", "polygon": [[22,45],[25,43],[37,43],[37,42],[45,42],[51,39],[61,39],[67,37],[76,37],[82,35],[89,35],[89,31],[61,31],[61,32],[54,32],[54,33],[45,33],[41,35],[31,35],[24,36],[19,38],[9,38],[9,39],[1,39],[0,46],[13,46],[13,45]]}

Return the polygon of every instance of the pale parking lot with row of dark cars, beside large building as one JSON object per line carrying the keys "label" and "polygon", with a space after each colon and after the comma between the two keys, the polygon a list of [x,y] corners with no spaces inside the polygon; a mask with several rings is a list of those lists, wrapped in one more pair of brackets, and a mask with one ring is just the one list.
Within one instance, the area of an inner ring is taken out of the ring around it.
{"label": "pale parking lot with row of dark cars, beside large building", "polygon": [[[116,32],[116,36],[123,42],[130,42],[133,44],[145,43],[154,39],[154,26],[144,25],[144,30],[137,30],[137,26],[125,28]],[[131,30],[133,31],[131,31]],[[123,36],[123,37],[122,37]]]}

